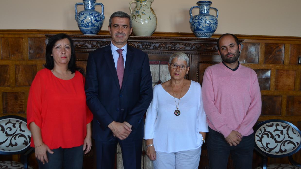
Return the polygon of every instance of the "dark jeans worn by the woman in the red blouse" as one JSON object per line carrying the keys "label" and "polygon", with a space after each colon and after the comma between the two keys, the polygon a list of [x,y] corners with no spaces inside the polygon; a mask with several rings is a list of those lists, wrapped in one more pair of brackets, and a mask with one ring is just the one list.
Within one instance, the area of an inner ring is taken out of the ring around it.
{"label": "dark jeans worn by the woman in the red blouse", "polygon": [[73,148],[52,149],[54,152],[47,152],[48,163],[43,164],[40,160],[39,169],[82,169],[84,158],[83,145]]}

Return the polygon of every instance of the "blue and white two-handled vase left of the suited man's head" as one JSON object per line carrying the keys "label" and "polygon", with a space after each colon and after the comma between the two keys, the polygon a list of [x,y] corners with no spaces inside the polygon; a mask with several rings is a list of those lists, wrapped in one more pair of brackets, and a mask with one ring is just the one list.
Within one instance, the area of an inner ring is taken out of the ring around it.
{"label": "blue and white two-handled vase left of the suited man's head", "polygon": [[[96,0],[82,0],[75,4],[75,20],[79,30],[86,35],[96,35],[104,22],[104,5]],[[77,13],[77,5],[84,5],[85,10]],[[95,10],[95,5],[101,5],[101,13]]]}

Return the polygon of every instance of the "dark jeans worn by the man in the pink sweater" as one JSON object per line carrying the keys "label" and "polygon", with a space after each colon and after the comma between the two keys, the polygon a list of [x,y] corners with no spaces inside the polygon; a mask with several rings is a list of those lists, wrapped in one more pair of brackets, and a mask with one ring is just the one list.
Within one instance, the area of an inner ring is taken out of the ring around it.
{"label": "dark jeans worn by the man in the pink sweater", "polygon": [[234,162],[235,169],[251,169],[254,149],[254,134],[244,136],[237,146],[230,146],[224,135],[209,128],[207,149],[210,169],[227,168],[228,157]]}

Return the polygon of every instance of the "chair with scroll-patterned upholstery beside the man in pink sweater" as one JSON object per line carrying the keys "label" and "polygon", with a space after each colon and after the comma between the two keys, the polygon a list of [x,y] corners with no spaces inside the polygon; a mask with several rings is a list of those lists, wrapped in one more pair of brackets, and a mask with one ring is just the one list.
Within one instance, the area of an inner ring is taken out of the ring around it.
{"label": "chair with scroll-patterned upholstery beside the man in pink sweater", "polygon": [[[301,132],[292,123],[284,120],[266,120],[255,127],[255,150],[263,156],[262,167],[256,169],[301,169],[293,160],[293,154],[299,151]],[[288,156],[289,164],[267,165],[268,157]]]}

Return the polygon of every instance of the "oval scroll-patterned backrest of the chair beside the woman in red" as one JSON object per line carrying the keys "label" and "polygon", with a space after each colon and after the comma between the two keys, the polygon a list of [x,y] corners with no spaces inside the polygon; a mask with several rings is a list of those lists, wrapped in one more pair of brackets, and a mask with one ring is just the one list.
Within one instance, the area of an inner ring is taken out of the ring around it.
{"label": "oval scroll-patterned backrest of the chair beside the woman in red", "polygon": [[30,148],[31,132],[20,116],[0,117],[0,154],[21,154]]}

